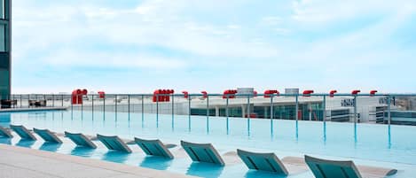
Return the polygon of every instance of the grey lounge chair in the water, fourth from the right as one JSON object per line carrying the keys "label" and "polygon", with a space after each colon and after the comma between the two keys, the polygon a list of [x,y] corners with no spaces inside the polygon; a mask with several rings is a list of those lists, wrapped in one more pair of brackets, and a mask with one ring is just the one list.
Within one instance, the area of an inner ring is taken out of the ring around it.
{"label": "grey lounge chair in the water, fourth from the right", "polygon": [[173,159],[173,155],[169,151],[168,147],[161,143],[160,140],[144,140],[135,137],[134,141],[143,151],[145,151],[145,154],[147,155]]}

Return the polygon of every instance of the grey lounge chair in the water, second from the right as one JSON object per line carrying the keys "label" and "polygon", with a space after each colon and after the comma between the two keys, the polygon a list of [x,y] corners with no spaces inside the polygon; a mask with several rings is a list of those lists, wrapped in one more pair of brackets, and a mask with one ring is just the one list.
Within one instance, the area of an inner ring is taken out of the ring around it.
{"label": "grey lounge chair in the water, second from the right", "polygon": [[287,175],[287,169],[274,153],[257,153],[237,149],[239,158],[249,169],[275,172]]}

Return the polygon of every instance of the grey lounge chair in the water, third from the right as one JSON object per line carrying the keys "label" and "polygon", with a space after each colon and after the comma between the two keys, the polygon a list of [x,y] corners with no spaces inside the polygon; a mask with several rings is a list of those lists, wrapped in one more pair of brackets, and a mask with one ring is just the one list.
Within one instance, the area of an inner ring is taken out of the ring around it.
{"label": "grey lounge chair in the water, third from the right", "polygon": [[224,166],[224,160],[211,143],[188,143],[181,141],[184,151],[191,157],[192,161],[213,163]]}

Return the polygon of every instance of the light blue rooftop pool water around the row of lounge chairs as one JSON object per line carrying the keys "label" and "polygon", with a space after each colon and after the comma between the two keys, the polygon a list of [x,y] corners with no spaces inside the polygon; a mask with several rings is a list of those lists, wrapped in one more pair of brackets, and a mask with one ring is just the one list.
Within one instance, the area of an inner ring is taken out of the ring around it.
{"label": "light blue rooftop pool water around the row of lounge chairs", "polygon": [[[143,116],[143,117],[142,117]],[[302,157],[304,154],[328,159],[353,159],[357,164],[396,168],[393,177],[414,177],[416,174],[416,127],[374,124],[334,123],[294,120],[257,120],[201,116],[179,116],[114,112],[14,112],[0,113],[0,125],[22,124],[27,128],[49,128],[51,131],[81,132],[86,135],[119,135],[125,139],[159,138],[165,143],[180,140],[213,143],[225,153],[244,149],[273,151],[279,158]],[[0,143],[19,145],[44,151],[56,151],[92,159],[104,159],[134,166],[168,170],[202,177],[276,177],[276,174],[248,171],[243,164],[212,166],[192,164],[188,158],[173,160],[145,157],[137,145],[133,153],[107,151],[100,143],[97,150],[75,148],[64,143],[20,141],[1,138]],[[311,177],[312,174],[291,174],[288,177]]]}

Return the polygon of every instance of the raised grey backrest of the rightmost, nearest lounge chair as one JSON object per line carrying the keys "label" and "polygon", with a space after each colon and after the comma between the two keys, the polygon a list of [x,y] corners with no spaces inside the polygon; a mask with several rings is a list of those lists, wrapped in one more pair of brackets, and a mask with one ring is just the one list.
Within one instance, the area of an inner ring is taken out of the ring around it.
{"label": "raised grey backrest of the rightmost, nearest lounge chair", "polygon": [[317,159],[305,155],[305,162],[316,178],[361,178],[357,166],[352,161]]}

